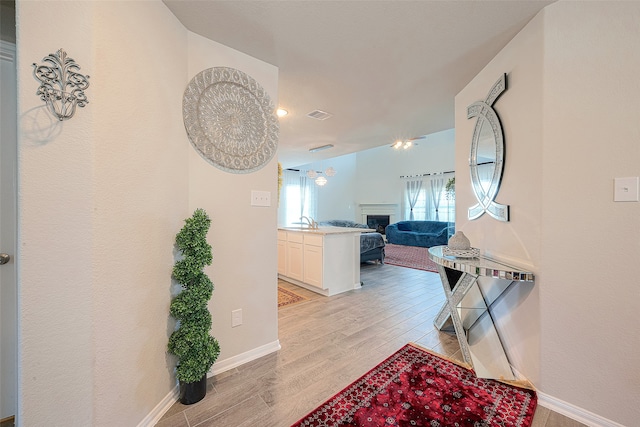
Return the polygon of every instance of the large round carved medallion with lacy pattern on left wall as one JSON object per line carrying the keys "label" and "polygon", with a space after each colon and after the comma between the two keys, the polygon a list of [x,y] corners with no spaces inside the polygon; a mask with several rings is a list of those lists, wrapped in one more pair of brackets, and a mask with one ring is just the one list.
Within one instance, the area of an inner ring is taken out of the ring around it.
{"label": "large round carved medallion with lacy pattern on left wall", "polygon": [[198,73],[184,91],[182,115],[193,147],[226,172],[254,172],[278,148],[271,98],[242,71],[214,67]]}

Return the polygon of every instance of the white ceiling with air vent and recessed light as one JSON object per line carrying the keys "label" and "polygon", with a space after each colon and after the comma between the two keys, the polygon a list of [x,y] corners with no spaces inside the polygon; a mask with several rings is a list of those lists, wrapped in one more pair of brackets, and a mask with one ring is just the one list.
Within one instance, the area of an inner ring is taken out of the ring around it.
{"label": "white ceiling with air vent and recessed light", "polygon": [[164,0],[190,31],[279,68],[285,168],[453,128],[455,95],[552,2]]}

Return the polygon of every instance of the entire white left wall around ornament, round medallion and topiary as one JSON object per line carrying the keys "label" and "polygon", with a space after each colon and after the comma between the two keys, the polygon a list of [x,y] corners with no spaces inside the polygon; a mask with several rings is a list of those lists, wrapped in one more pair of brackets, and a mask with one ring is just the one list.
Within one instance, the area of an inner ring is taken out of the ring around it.
{"label": "entire white left wall around ornament, round medallion and topiary", "polygon": [[[272,97],[277,70],[198,40],[160,1],[24,1],[17,18],[18,425],[152,422],[172,403],[174,239],[196,207],[213,219],[218,362],[277,344],[276,208],[249,207],[250,189],[275,194],[276,162],[243,175],[206,164],[181,108],[201,68],[235,66]],[[61,47],[91,76],[90,103],[63,123],[31,67]]]}

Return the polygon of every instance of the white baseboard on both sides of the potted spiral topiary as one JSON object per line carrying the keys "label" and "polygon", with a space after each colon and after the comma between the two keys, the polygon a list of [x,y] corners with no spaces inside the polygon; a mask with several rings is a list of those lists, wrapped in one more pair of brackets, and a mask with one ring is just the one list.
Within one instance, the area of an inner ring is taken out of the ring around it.
{"label": "white baseboard on both sides of the potted spiral topiary", "polygon": [[[252,360],[258,359],[274,351],[280,350],[280,340],[275,340],[269,344],[265,344],[253,350],[231,357],[229,359],[216,362],[211,367],[211,371],[207,373],[207,378],[221,374],[222,372],[231,370],[240,365],[243,365]],[[140,423],[137,427],[152,427],[157,424],[164,414],[173,406],[174,403],[180,398],[180,385],[176,386],[156,405],[155,408]]]}

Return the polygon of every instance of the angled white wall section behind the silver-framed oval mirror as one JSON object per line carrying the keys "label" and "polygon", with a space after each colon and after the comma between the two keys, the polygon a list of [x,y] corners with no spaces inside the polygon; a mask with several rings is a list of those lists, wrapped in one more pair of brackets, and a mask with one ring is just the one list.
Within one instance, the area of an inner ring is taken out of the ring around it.
{"label": "angled white wall section behind the silver-framed oval mirror", "polygon": [[[519,283],[493,307],[493,317],[511,363],[530,381],[540,377],[540,204],[542,174],[542,16],[534,18],[457,96],[456,230],[485,254],[509,261],[537,276]],[[507,90],[493,104],[502,122],[505,166],[496,202],[510,206],[509,222],[484,214],[468,220],[477,203],[471,190],[469,157],[476,119],[467,107],[484,101],[507,73]]]}

